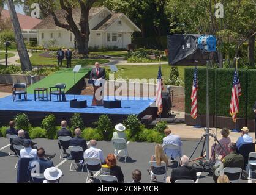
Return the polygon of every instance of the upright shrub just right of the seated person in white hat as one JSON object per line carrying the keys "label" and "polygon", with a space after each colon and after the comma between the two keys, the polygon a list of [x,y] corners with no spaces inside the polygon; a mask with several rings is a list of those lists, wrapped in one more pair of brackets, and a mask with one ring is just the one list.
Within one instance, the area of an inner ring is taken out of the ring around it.
{"label": "upright shrub just right of the seated person in white hat", "polygon": [[141,122],[138,119],[138,115],[129,115],[124,124],[127,129],[130,129],[130,137],[134,137],[141,130]]}

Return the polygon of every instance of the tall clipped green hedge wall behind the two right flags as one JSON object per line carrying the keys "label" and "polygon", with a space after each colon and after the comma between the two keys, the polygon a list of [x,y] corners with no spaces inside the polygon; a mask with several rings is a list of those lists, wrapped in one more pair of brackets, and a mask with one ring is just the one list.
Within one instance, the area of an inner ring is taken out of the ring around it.
{"label": "tall clipped green hedge wall behind the two right flags", "polygon": [[[230,117],[230,99],[235,69],[209,69],[209,114]],[[238,118],[254,119],[256,101],[256,69],[238,69],[242,95],[239,97]],[[185,69],[185,111],[190,113],[194,68]],[[215,108],[216,101],[216,108]],[[198,113],[206,114],[206,68],[198,68]]]}

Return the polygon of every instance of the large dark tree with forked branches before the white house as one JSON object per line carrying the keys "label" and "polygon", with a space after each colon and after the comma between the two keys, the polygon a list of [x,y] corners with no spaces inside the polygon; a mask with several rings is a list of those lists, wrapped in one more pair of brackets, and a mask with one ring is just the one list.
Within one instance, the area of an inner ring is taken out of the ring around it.
{"label": "large dark tree with forked branches before the white house", "polygon": [[[68,1],[68,0],[59,0],[59,5],[62,10],[66,11],[66,15],[64,16],[67,24],[62,23],[58,16],[56,16],[56,1],[54,0],[39,0],[40,9],[45,15],[51,15],[55,21],[55,25],[67,29],[75,35],[76,45],[77,45],[77,53],[78,54],[88,54],[88,43],[89,43],[89,10],[92,5],[97,0],[77,0],[77,1]],[[81,16],[80,23],[77,25],[73,19],[73,9],[75,7],[80,7]]]}

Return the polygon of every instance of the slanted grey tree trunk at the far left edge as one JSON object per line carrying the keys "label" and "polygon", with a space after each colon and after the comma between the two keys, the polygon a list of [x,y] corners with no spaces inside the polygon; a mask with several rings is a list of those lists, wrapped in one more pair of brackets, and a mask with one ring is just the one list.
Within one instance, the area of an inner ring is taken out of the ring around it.
{"label": "slanted grey tree trunk at the far left edge", "polygon": [[15,11],[15,5],[13,4],[12,0],[8,0],[8,9],[10,12],[10,19],[12,19],[18,55],[20,56],[21,69],[22,71],[32,71],[28,51],[24,43],[23,35],[20,29],[20,23],[18,21],[17,13]]}

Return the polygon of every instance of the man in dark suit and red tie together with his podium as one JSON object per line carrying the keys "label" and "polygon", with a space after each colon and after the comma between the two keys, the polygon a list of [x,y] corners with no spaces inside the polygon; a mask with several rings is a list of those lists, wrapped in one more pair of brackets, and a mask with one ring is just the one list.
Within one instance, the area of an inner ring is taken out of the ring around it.
{"label": "man in dark suit and red tie together with his podium", "polygon": [[[92,68],[90,79],[93,80],[94,95],[92,100],[92,106],[103,106],[103,96],[102,96],[102,83],[106,77],[106,72],[104,68],[100,68],[100,63],[95,63],[95,68]],[[97,93],[100,90],[100,93]]]}

